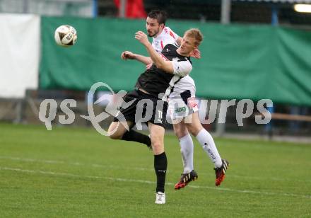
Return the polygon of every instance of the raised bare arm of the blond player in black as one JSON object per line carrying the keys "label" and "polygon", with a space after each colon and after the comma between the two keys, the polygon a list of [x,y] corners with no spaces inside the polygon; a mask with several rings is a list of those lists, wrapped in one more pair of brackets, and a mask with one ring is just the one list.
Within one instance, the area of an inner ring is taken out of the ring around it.
{"label": "raised bare arm of the blond player in black", "polygon": [[172,66],[172,62],[165,61],[160,54],[155,52],[153,49],[151,43],[148,41],[147,35],[143,33],[142,31],[139,31],[135,34],[136,40],[139,40],[141,44],[143,44],[146,47],[147,52],[149,53],[153,63],[155,64],[158,69],[163,69],[163,71],[166,71],[169,74],[174,73],[174,68]]}

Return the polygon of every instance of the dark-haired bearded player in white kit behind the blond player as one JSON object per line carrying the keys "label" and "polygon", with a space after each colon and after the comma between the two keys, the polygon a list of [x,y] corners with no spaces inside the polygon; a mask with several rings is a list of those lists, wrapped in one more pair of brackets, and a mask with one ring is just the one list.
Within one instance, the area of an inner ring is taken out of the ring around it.
{"label": "dark-haired bearded player in white kit behind the blond player", "polygon": [[[152,46],[157,52],[162,52],[165,45],[180,45],[182,38],[174,33],[168,26],[165,26],[166,13],[164,11],[153,10],[148,13],[146,18],[146,30],[148,36],[153,38]],[[194,36],[195,37],[195,36]],[[192,57],[200,58],[199,50],[194,50]],[[140,54],[134,54],[129,51],[122,52],[122,59],[136,59],[146,67],[150,67],[152,60]],[[220,185],[225,178],[225,171],[229,163],[225,159],[221,159],[215,142],[211,134],[202,127],[199,121],[198,106],[195,101],[196,86],[194,80],[188,75],[184,76],[175,84],[169,98],[168,112],[173,120],[173,127],[176,136],[180,142],[180,151],[182,153],[182,161],[184,171],[175,189],[184,188],[192,180],[196,180],[198,175],[194,171],[193,152],[194,145],[189,132],[196,137],[206,154],[213,162],[216,173],[216,186]]]}

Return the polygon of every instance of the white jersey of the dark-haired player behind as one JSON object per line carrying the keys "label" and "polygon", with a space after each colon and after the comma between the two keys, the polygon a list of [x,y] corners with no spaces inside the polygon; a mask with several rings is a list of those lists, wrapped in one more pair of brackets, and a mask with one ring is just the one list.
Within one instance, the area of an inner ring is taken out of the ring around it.
{"label": "white jersey of the dark-haired player behind", "polygon": [[[166,26],[162,33],[157,37],[153,37],[152,47],[158,53],[162,52],[165,45],[172,44],[177,45],[176,40],[179,36],[174,33],[168,26]],[[170,98],[180,98],[180,93],[189,90],[191,96],[195,96],[196,86],[194,80],[190,76],[184,76],[174,86],[174,90],[170,93]]]}

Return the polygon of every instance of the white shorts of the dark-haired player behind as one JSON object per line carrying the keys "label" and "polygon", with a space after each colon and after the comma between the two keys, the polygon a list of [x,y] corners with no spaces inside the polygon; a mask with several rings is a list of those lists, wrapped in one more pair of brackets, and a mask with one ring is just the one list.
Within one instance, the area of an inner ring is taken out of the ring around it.
{"label": "white shorts of the dark-haired player behind", "polygon": [[182,119],[198,110],[198,104],[194,96],[187,98],[187,103],[182,98],[169,98],[168,114],[172,120]]}

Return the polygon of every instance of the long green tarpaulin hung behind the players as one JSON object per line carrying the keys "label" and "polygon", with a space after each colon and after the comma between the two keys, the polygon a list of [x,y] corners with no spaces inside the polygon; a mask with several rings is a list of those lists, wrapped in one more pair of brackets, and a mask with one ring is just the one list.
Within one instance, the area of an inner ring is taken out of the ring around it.
{"label": "long green tarpaulin hung behind the players", "polygon": [[[73,25],[78,42],[70,48],[54,42],[54,30]],[[199,28],[202,58],[190,76],[204,98],[269,98],[275,103],[311,105],[311,32],[269,25],[220,25],[169,21],[177,34]],[[133,89],[145,67],[123,61],[124,50],[147,54],[134,39],[143,20],[42,17],[40,88],[88,90],[102,81],[115,91]]]}

